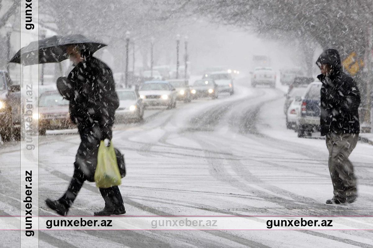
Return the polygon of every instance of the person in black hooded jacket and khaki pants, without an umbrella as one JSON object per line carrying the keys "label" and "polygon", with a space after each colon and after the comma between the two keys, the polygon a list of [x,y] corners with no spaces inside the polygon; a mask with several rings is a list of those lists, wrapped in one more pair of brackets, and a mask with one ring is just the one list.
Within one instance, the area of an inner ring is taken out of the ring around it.
{"label": "person in black hooded jacket and khaki pants, without an umbrella", "polygon": [[317,59],[321,87],[321,135],[326,136],[333,198],[327,204],[352,203],[357,197],[357,180],[348,156],[360,132],[360,92],[355,80],[344,73],[338,51],[325,50]]}

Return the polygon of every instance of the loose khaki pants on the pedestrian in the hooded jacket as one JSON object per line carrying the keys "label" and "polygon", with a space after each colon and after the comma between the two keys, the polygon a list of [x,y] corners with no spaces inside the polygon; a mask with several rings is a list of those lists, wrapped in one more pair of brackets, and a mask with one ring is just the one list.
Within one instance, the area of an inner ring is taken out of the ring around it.
{"label": "loose khaki pants on the pedestrian in the hooded jacket", "polygon": [[326,135],[329,151],[329,172],[333,183],[334,198],[347,199],[357,196],[354,167],[348,159],[359,139],[358,133]]}

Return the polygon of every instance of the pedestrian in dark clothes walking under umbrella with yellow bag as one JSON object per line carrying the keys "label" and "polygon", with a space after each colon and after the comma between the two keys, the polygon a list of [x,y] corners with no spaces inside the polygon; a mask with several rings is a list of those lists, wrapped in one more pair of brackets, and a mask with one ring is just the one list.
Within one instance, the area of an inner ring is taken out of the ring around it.
{"label": "pedestrian in dark clothes walking under umbrella with yellow bag", "polygon": [[[78,127],[81,144],[74,162],[74,174],[68,190],[58,200],[46,200],[48,207],[65,216],[85,180],[94,181],[100,141],[110,145],[115,110],[119,100],[110,68],[82,45],[66,49],[75,67],[68,77],[57,80],[60,94],[69,100],[70,119]],[[105,207],[94,215],[108,216],[126,213],[118,186],[100,188]]]}

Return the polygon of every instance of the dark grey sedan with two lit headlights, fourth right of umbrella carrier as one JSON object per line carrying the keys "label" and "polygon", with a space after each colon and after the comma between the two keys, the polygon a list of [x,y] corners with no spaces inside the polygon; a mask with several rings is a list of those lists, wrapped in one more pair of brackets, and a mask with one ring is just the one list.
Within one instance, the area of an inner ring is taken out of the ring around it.
{"label": "dark grey sedan with two lit headlights, fourth right of umbrella carrier", "polygon": [[216,99],[219,96],[219,86],[211,78],[204,78],[197,80],[191,87],[192,98],[211,97]]}

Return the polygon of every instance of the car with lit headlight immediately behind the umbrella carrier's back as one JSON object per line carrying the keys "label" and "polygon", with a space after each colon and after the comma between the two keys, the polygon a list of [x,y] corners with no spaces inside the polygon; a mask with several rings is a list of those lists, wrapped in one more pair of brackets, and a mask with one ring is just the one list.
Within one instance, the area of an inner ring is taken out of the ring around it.
{"label": "car with lit headlight immediately behind the umbrella carrier's back", "polygon": [[117,90],[119,107],[115,111],[116,122],[127,120],[141,121],[144,116],[144,104],[140,95],[134,90]]}

